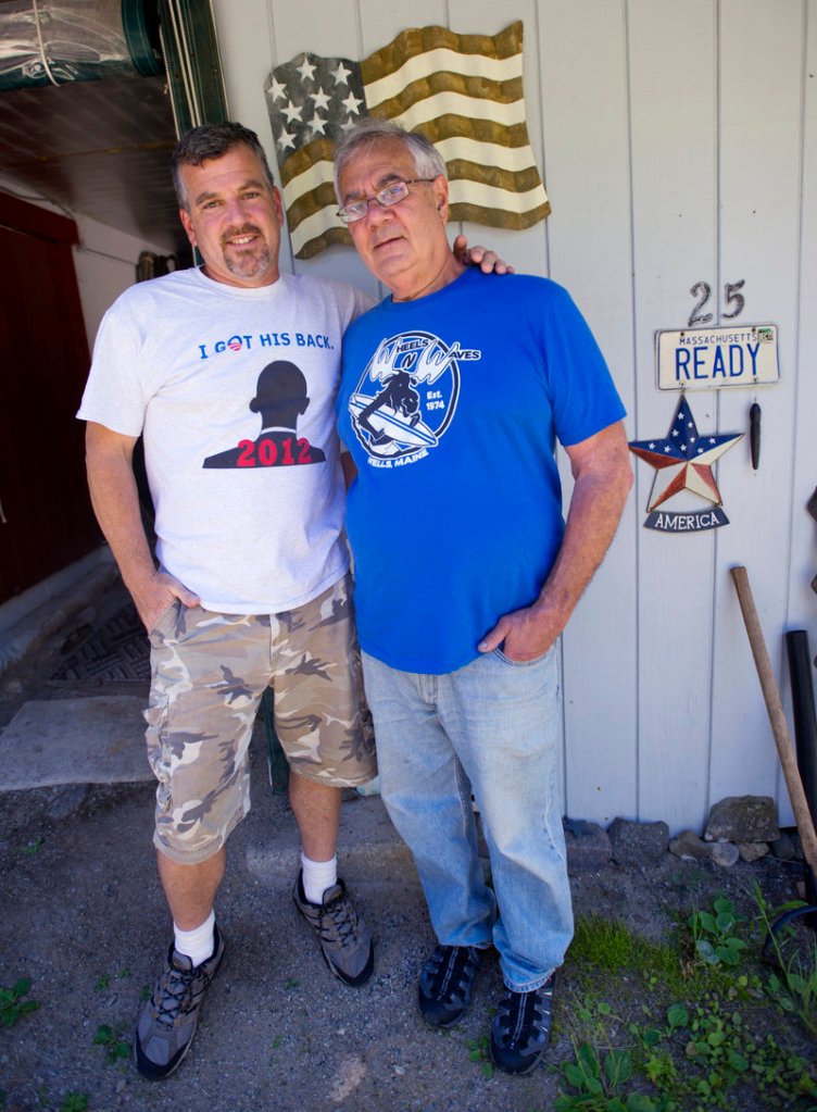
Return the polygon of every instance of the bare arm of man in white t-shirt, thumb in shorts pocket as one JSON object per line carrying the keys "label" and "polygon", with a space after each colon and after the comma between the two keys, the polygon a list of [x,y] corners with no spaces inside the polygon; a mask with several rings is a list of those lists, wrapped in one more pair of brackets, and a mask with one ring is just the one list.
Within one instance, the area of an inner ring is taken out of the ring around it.
{"label": "bare arm of man in white t-shirt, thumb in shorts pocket", "polygon": [[175,598],[196,606],[198,597],[172,575],[159,572],[145,535],[133,476],[136,437],[88,421],[86,464],[88,487],[99,526],[119,565],[146,629]]}

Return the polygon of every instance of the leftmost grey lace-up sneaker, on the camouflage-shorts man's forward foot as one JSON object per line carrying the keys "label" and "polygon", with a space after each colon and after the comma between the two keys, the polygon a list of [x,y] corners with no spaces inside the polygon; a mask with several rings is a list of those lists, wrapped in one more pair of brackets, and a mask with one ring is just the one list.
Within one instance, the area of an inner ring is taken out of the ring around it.
{"label": "leftmost grey lace-up sneaker, on the camouflage-shorts man's forward foot", "polygon": [[169,1078],[190,1050],[201,1001],[225,952],[218,926],[215,937],[212,954],[196,969],[186,954],[170,947],[161,976],[139,1014],[133,1053],[137,1070],[150,1081]]}

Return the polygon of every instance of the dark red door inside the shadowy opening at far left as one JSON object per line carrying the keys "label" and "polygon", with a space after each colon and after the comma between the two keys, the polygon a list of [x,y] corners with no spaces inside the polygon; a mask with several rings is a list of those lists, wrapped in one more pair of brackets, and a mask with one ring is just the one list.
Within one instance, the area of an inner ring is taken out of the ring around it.
{"label": "dark red door inside the shadowy opening at far left", "polygon": [[0,603],[101,542],[74,417],[89,353],[72,220],[0,193]]}

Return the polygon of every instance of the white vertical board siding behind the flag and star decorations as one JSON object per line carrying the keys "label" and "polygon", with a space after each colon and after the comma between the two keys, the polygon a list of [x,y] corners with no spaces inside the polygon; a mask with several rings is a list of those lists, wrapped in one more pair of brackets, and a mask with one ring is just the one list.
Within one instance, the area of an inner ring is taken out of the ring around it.
{"label": "white vertical board siding behind the flag and star decorations", "polygon": [[[565,637],[565,811],[699,830],[725,795],[791,810],[729,568],[745,564],[784,704],[784,634],[817,652],[817,0],[213,0],[230,112],[275,167],[263,81],[300,51],[361,59],[407,27],[495,34],[525,22],[528,127],[552,205],[527,232],[466,226],[517,269],[567,286],[628,410],[630,439],[664,436],[678,396],[656,387],[655,332],[687,326],[690,288],[728,324],[779,326],[781,380],[759,388],[748,435],[717,468],[730,524],[644,528],[654,471]],[[376,292],[353,251],[283,265]],[[733,306],[734,307],[734,306]],[[701,433],[748,434],[751,390],[689,395]],[[569,495],[569,476],[565,474]],[[690,499],[669,508],[688,508]],[[703,504],[700,504],[703,507]]]}

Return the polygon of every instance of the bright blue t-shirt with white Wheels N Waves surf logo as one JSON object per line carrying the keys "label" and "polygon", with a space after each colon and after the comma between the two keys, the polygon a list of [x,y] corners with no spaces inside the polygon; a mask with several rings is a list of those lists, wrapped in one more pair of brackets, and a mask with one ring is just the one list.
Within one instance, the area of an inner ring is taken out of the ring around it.
{"label": "bright blue t-shirt with white Wheels N Waves surf logo", "polygon": [[539,595],[565,529],[556,439],[625,414],[565,289],[476,268],[347,329],[337,411],[361,647],[431,675]]}

